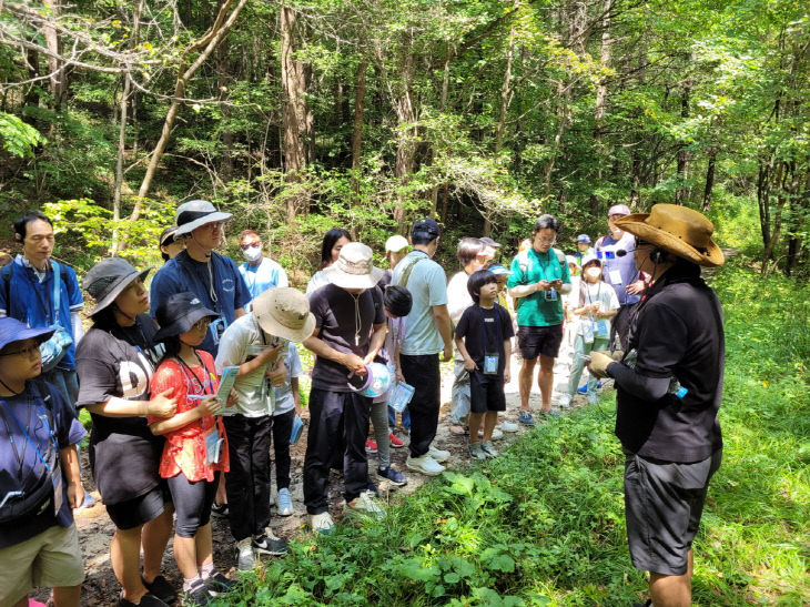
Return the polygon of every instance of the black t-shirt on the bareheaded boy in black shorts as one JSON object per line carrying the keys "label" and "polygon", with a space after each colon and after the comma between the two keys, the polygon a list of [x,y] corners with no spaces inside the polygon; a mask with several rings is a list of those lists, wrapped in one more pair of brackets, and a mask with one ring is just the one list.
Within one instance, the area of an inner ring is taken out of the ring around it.
{"label": "black t-shirt on the bareheaded boy in black shorts", "polygon": [[456,326],[456,336],[464,340],[467,353],[478,365],[479,371],[484,370],[484,354],[498,354],[498,375],[500,376],[504,375],[506,368],[504,341],[514,334],[509,313],[498,304],[495,304],[492,310],[486,310],[477,304],[470,305],[464,311]]}

